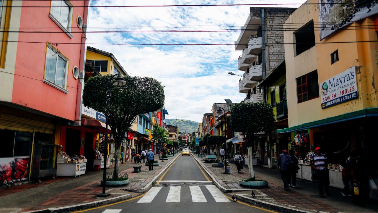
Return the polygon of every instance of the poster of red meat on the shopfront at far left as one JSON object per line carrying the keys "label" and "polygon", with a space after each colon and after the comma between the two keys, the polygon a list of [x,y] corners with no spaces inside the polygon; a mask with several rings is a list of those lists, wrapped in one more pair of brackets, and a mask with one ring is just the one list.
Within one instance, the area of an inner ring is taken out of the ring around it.
{"label": "poster of red meat on the shopfront at far left", "polygon": [[29,180],[30,158],[0,158],[0,185]]}

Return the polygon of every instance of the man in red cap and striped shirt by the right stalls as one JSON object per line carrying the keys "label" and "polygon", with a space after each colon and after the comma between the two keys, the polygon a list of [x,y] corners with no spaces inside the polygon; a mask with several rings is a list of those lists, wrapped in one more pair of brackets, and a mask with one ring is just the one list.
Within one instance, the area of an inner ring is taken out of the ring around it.
{"label": "man in red cap and striped shirt by the right stalls", "polygon": [[328,160],[325,154],[321,153],[320,147],[315,148],[315,154],[311,155],[310,165],[316,171],[316,177],[318,178],[319,195],[324,196],[323,187],[327,196],[330,195],[330,184],[328,177]]}

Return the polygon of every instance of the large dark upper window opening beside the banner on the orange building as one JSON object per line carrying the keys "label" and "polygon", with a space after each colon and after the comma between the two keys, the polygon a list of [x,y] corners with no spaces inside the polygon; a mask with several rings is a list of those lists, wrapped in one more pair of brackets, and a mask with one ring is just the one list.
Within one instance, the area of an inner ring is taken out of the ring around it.
{"label": "large dark upper window opening beside the banner on the orange building", "polygon": [[295,55],[315,46],[314,21],[311,20],[294,33]]}

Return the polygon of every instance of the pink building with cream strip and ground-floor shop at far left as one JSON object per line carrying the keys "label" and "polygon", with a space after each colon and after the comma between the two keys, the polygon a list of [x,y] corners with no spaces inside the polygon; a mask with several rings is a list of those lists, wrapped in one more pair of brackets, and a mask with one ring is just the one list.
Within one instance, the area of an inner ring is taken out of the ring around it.
{"label": "pink building with cream strip and ground-floor shop at far left", "polygon": [[89,1],[0,3],[2,185],[55,175],[60,129],[80,125]]}

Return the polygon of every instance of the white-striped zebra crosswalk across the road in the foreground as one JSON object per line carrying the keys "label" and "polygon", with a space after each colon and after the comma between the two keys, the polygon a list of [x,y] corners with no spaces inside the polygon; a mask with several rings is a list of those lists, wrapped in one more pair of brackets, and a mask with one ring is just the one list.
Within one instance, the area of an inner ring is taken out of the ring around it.
{"label": "white-striped zebra crosswalk across the road in the foreground", "polygon": [[[151,203],[161,191],[162,188],[169,188],[168,194],[162,192],[160,196],[167,196],[166,203],[181,202],[181,192],[182,188],[187,188],[187,186],[171,186],[171,187],[153,187],[151,188],[137,203]],[[203,191],[206,190],[207,191]],[[186,189],[187,190],[187,189]],[[215,202],[230,202],[230,200],[218,190],[214,185],[206,185],[202,188],[200,186],[189,186],[192,202],[194,203],[206,203],[209,199],[206,199],[205,194],[211,194]],[[163,200],[162,200],[163,201]],[[186,200],[186,202],[189,200]]]}

